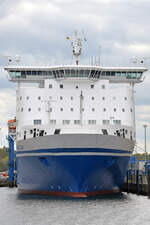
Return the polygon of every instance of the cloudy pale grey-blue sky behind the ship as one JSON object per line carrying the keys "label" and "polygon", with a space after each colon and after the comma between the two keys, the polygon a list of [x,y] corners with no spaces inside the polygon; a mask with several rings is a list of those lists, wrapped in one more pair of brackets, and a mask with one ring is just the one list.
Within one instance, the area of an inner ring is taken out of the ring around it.
{"label": "cloudy pale grey-blue sky behind the ship", "polygon": [[[150,69],[149,0],[3,0],[0,2],[0,146],[7,145],[7,121],[15,116],[16,85],[3,70],[7,56],[25,65],[71,62],[66,36],[77,30],[87,41],[82,64],[100,54],[101,66],[140,66]],[[133,57],[137,63],[133,64]],[[139,152],[150,152],[150,73],[135,89]]]}

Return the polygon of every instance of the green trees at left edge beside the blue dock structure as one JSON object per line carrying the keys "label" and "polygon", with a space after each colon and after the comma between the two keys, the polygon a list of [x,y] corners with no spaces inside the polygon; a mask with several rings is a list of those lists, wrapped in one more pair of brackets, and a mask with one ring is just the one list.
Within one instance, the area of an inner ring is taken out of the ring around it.
{"label": "green trees at left edge beside the blue dock structure", "polygon": [[6,147],[0,148],[0,172],[8,170],[8,152]]}

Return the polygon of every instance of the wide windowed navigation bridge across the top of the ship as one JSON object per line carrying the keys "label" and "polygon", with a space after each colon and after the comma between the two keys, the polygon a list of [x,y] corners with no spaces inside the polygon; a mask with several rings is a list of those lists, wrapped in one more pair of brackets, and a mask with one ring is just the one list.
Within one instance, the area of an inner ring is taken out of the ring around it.
{"label": "wide windowed navigation bridge across the top of the ship", "polygon": [[145,67],[100,67],[83,65],[60,65],[53,67],[8,66],[5,70],[12,82],[41,82],[45,79],[92,79],[109,80],[110,83],[140,83]]}

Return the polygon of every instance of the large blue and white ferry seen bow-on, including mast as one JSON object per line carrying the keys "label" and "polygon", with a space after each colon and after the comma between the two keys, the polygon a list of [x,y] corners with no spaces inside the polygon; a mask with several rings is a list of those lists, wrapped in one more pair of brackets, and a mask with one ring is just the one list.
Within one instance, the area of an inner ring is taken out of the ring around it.
{"label": "large blue and white ferry seen bow-on, including mast", "polygon": [[86,197],[119,193],[136,141],[134,86],[144,67],[15,66],[18,191]]}

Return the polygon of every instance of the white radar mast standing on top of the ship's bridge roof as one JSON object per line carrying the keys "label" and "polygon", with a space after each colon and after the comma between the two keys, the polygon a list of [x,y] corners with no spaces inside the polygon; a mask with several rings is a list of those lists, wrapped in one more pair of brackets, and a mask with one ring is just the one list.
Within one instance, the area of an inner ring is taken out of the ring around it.
{"label": "white radar mast standing on top of the ship's bridge roof", "polygon": [[[70,40],[70,37],[66,38]],[[71,46],[72,46],[72,56],[76,63],[79,65],[80,55],[82,54],[82,42],[86,41],[86,38],[79,38],[77,31],[74,32],[74,36],[71,38]]]}

